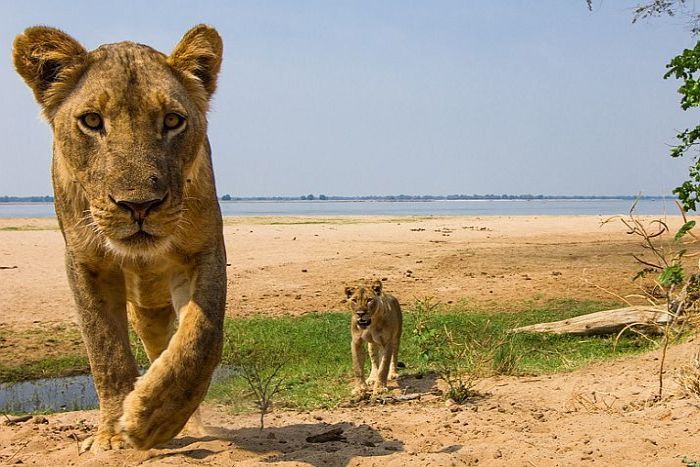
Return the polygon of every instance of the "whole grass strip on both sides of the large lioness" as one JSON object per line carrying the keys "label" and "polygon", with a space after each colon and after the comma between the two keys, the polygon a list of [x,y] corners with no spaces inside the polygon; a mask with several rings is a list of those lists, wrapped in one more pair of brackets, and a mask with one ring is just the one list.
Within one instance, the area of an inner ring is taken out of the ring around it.
{"label": "whole grass strip on both sides of the large lioness", "polygon": [[[544,321],[613,308],[615,303],[551,300],[532,304],[525,311],[475,310],[466,303],[441,305],[431,316],[433,326],[446,326],[455,336],[484,347],[500,342],[493,352],[493,373],[543,374],[571,371],[593,361],[615,358],[653,349],[655,344],[629,334],[613,348],[613,337],[576,337],[540,334],[509,335],[508,331]],[[423,358],[421,342],[414,333],[420,308],[405,307],[404,334],[399,358],[406,364],[403,374],[431,371]],[[278,406],[295,409],[334,407],[348,400],[351,391],[349,313],[310,313],[299,317],[252,317],[227,319],[223,365],[232,365],[236,355],[254,351],[259,356],[283,354],[284,390],[276,397]],[[132,347],[139,365],[147,358],[132,333]],[[13,332],[0,328],[0,382],[50,378],[89,373],[82,341],[75,327]],[[12,351],[8,351],[13,349]],[[39,355],[41,357],[37,358]],[[369,362],[368,362],[369,363]],[[483,369],[481,369],[483,370]],[[254,410],[250,389],[240,377],[215,383],[209,399],[229,405],[234,411]]]}

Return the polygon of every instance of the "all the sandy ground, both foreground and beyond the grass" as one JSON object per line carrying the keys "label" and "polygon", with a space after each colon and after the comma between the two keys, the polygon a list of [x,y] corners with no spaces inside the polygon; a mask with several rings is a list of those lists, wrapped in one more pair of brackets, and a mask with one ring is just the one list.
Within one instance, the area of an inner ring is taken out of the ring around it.
{"label": "all the sandy ground, both foreground and beyond the grass", "polygon": [[[636,291],[636,240],[598,217],[227,219],[231,316],[340,310],[345,284],[384,278],[404,303],[513,310],[549,298],[608,300]],[[678,219],[674,220],[678,223]],[[14,230],[22,229],[34,230]],[[74,320],[62,238],[50,220],[0,220],[0,311],[5,329]],[[16,266],[16,267],[15,267]],[[605,289],[605,290],[604,290]],[[7,344],[7,343],[6,343]],[[9,346],[10,350],[12,345]],[[3,353],[8,347],[2,349]],[[481,383],[483,399],[452,411],[437,397],[395,405],[255,415],[204,411],[209,434],[181,436],[148,452],[78,456],[76,438],[97,414],[0,426],[0,462],[35,465],[682,465],[700,458],[700,401],[680,398],[673,375],[697,350],[674,347],[665,397],[658,355],[570,374]],[[425,380],[401,380],[407,392]],[[344,440],[310,443],[340,426]]]}

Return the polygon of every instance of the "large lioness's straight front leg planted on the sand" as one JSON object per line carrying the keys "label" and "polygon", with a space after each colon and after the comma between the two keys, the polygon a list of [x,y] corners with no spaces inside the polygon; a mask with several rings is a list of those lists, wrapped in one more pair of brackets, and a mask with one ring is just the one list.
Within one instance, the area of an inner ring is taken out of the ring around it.
{"label": "large lioness's straight front leg planted on the sand", "polygon": [[129,345],[124,279],[120,272],[96,270],[70,256],[66,266],[100,399],[97,433],[83,442],[81,452],[122,448],[118,430],[122,402],[138,376]]}

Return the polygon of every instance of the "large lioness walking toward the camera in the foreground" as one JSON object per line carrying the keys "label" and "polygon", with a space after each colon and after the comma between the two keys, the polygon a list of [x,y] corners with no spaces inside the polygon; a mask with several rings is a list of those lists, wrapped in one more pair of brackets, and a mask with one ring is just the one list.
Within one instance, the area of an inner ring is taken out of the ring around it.
{"label": "large lioness walking toward the camera in the foreground", "polygon": [[[133,42],[88,52],[49,27],[14,41],[53,129],[56,215],[100,399],[83,450],[168,441],[219,362],[226,253],[206,113],[222,52],[205,25],[170,55]],[[151,360],[140,378],[127,313]]]}

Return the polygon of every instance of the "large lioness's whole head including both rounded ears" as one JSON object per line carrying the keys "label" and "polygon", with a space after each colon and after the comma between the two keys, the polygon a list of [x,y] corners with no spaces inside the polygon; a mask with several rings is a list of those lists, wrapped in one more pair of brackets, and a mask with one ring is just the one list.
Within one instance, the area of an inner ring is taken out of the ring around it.
{"label": "large lioness's whole head including both rounded ears", "polygon": [[[54,186],[108,249],[167,246],[208,151],[223,45],[205,25],[169,56],[132,42],[86,51],[54,28],[17,36],[14,64],[54,132]],[[78,201],[76,201],[78,200]],[[73,206],[73,204],[80,206]]]}

